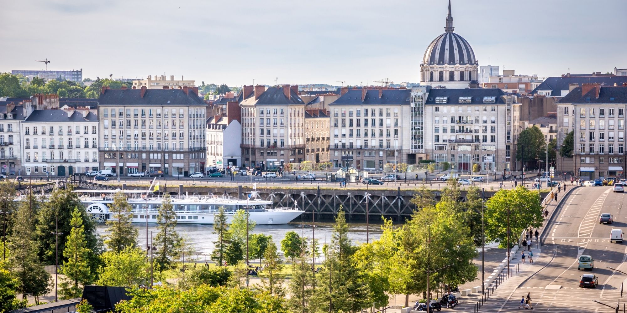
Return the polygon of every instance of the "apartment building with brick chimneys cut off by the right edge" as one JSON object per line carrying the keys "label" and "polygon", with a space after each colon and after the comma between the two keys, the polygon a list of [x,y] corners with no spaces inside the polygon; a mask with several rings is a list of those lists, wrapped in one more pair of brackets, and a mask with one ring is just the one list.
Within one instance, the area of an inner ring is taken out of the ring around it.
{"label": "apartment building with brick chimneys cut off by the right edge", "polygon": [[[574,172],[590,179],[624,177],[627,86],[584,83],[558,102],[560,133],[574,131]],[[557,145],[564,138],[558,137]]]}

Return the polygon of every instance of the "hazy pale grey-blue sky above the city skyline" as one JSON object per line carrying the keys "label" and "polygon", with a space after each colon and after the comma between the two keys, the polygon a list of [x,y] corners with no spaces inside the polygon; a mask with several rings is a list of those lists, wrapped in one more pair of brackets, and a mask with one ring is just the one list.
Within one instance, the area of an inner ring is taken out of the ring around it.
{"label": "hazy pale grey-blue sky above the city skyline", "polygon": [[[480,65],[558,76],[627,67],[627,1],[453,0],[455,33]],[[205,83],[417,83],[446,0],[9,1],[0,71],[83,78],[181,75]]]}

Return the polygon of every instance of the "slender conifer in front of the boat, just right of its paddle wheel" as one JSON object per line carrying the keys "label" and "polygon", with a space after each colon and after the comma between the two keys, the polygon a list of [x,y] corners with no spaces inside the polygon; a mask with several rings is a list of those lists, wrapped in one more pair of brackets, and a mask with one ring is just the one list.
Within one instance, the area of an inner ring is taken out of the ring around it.
{"label": "slender conifer in front of the boat, just right of its paddle wheel", "polygon": [[108,205],[112,219],[107,220],[107,247],[115,252],[120,252],[126,247],[137,247],[139,230],[133,227],[132,210],[126,196],[121,191],[115,193],[113,202]]}

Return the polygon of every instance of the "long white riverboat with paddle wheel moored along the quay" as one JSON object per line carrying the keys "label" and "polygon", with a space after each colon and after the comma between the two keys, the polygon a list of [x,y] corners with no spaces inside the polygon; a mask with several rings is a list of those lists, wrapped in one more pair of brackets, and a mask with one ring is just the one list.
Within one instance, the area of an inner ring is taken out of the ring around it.
{"label": "long white riverboat with paddle wheel moored along the quay", "polygon": [[[97,222],[113,219],[108,204],[113,202],[113,196],[119,190],[75,190],[81,202],[87,207]],[[134,223],[156,223],[159,207],[163,202],[163,195],[146,195],[145,190],[123,190],[129,204],[132,206]],[[219,207],[224,207],[226,222],[237,210],[248,210],[250,220],[257,225],[285,224],[300,216],[303,211],[297,208],[270,207],[272,202],[258,199],[242,200],[228,195],[170,195],[177,223],[183,224],[213,224],[213,218],[218,214]],[[146,210],[147,206],[147,210]]]}

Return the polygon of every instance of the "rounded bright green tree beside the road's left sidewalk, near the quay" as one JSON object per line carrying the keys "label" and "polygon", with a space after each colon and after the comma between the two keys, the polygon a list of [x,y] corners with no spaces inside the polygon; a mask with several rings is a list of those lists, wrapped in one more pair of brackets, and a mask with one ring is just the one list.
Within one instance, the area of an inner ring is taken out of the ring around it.
{"label": "rounded bright green tree beside the road's left sidewalk, near the quay", "polygon": [[516,242],[525,228],[542,226],[542,205],[537,190],[522,186],[512,190],[502,189],[490,197],[485,209],[485,236],[506,247],[507,212],[509,211],[510,240]]}

